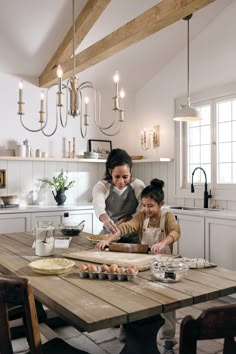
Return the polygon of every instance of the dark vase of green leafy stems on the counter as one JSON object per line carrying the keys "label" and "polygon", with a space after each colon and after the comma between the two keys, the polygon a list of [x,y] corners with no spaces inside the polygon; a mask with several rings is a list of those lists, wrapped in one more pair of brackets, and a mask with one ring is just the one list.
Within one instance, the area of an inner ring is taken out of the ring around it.
{"label": "dark vase of green leafy stems on the counter", "polygon": [[57,205],[63,205],[65,203],[65,191],[71,188],[75,183],[75,181],[68,181],[68,176],[65,175],[63,170],[61,170],[57,176],[52,177],[52,179],[41,178],[39,181],[42,182],[42,187],[47,186],[52,189],[52,194]]}

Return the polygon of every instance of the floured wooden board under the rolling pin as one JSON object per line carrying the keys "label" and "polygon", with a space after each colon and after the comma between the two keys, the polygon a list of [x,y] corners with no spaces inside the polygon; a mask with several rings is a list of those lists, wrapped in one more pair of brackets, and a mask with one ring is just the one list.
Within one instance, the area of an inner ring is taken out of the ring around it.
{"label": "floured wooden board under the rolling pin", "polygon": [[118,266],[124,267],[135,265],[140,271],[149,269],[152,262],[156,258],[153,254],[109,252],[98,251],[95,249],[78,252],[67,251],[62,255],[67,258],[79,259],[93,263],[105,263],[107,265],[112,263],[116,263]]}

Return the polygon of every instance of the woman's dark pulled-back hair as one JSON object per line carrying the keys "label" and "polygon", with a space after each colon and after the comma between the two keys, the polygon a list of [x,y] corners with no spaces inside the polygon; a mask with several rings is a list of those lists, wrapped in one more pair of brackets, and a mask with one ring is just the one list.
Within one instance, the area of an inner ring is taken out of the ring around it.
{"label": "woman's dark pulled-back hair", "polygon": [[122,149],[113,149],[107,157],[106,161],[106,171],[104,179],[106,181],[111,181],[112,176],[110,174],[110,170],[113,170],[117,166],[128,165],[130,172],[132,170],[132,158],[129,154]]}

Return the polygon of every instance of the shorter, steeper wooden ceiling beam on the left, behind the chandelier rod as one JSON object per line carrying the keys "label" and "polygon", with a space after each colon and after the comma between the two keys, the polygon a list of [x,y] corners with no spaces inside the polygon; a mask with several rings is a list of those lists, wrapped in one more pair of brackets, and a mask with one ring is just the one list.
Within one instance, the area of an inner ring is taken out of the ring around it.
{"label": "shorter, steeper wooden ceiling beam on the left, behind the chandelier rod", "polygon": [[[79,13],[75,20],[75,48],[78,48],[82,40],[86,37],[88,32],[93,27],[94,23],[101,16],[103,11],[109,5],[111,0],[88,0],[82,11]],[[73,54],[73,26],[67,32],[65,38],[57,48],[56,52],[50,59],[43,73],[40,75],[39,81],[44,76],[47,76],[48,72],[55,69],[58,64],[65,62],[71,58]],[[43,80],[43,79],[42,79]],[[48,86],[40,85],[40,86]]]}

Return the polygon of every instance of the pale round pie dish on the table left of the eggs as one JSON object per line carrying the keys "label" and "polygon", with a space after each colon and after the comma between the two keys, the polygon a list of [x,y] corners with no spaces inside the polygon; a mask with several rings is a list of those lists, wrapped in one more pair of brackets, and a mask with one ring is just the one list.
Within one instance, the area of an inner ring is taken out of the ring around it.
{"label": "pale round pie dish on the table left of the eggs", "polygon": [[34,272],[51,275],[69,272],[74,265],[74,261],[66,258],[38,259],[37,261],[29,263],[29,267],[31,267]]}

